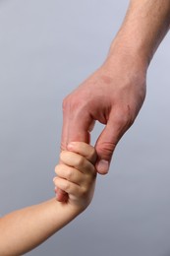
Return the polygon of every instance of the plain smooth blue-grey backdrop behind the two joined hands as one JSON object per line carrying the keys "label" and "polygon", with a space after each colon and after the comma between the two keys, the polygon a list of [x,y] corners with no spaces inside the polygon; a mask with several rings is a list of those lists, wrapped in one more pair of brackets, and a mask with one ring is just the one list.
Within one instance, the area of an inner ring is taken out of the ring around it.
{"label": "plain smooth blue-grey backdrop behind the two joined hands", "polygon": [[[128,2],[0,1],[1,215],[53,196],[62,99],[103,62]],[[169,40],[92,204],[27,255],[170,255]]]}

